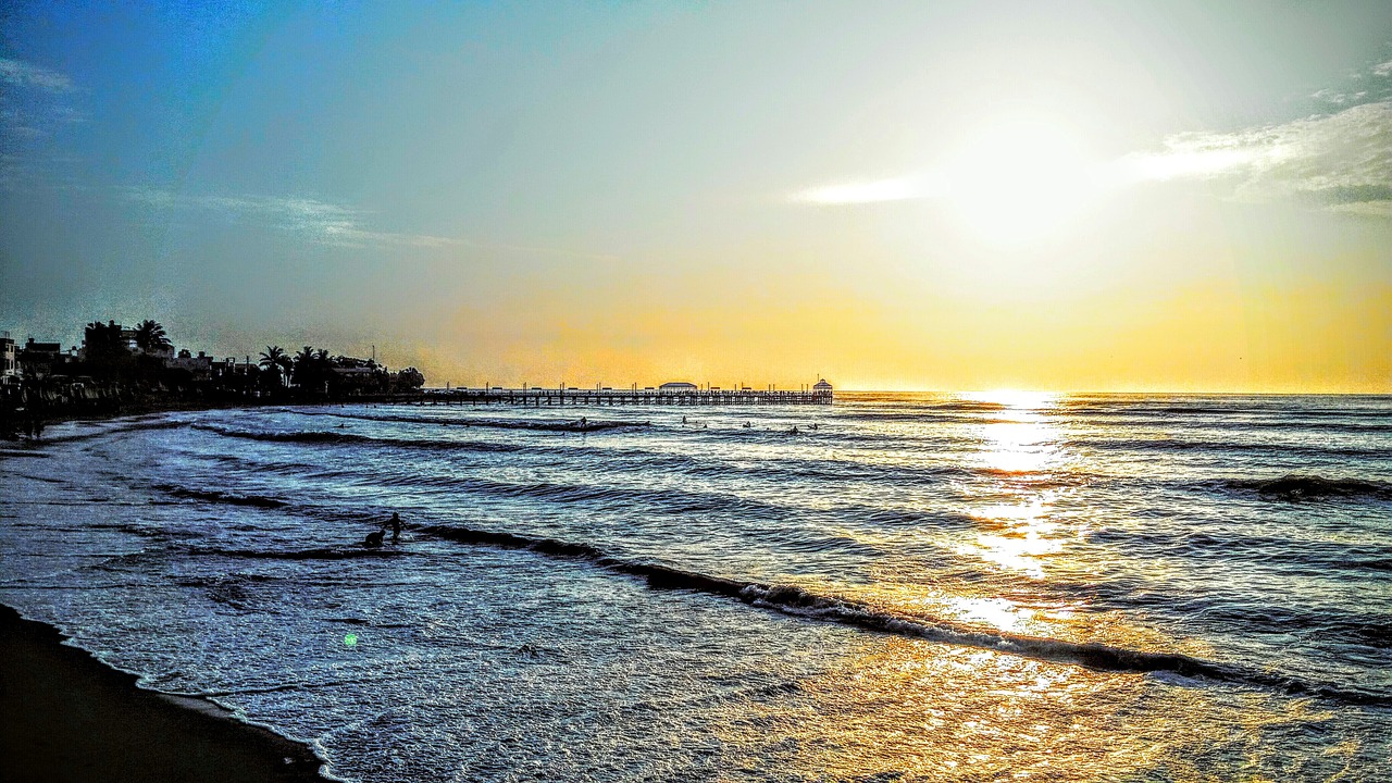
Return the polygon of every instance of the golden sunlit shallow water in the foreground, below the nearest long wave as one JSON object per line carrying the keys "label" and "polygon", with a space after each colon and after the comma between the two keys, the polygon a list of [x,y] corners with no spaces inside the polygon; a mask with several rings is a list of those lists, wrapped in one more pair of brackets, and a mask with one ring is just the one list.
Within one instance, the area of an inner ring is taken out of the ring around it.
{"label": "golden sunlit shallow water in the foreground, below the nearest long wave", "polygon": [[724,747],[798,780],[1258,782],[1283,763],[1267,731],[1321,720],[1270,694],[917,639],[846,644],[795,691],[728,705]]}

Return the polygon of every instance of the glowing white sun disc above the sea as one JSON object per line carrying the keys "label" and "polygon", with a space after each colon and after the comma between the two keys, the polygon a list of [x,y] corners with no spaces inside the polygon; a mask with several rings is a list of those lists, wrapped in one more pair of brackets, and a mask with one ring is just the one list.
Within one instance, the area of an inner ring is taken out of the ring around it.
{"label": "glowing white sun disc above the sea", "polygon": [[949,213],[972,234],[1001,245],[1045,238],[1069,226],[1100,195],[1098,166],[1065,123],[992,123],[944,164]]}

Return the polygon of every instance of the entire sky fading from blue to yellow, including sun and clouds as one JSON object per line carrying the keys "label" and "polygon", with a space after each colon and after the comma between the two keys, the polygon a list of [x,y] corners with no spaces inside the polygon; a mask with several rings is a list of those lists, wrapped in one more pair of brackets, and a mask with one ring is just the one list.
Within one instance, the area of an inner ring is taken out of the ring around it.
{"label": "entire sky fading from blue to yellow, including sun and clouds", "polygon": [[1385,0],[125,6],[0,10],[21,341],[1392,392]]}

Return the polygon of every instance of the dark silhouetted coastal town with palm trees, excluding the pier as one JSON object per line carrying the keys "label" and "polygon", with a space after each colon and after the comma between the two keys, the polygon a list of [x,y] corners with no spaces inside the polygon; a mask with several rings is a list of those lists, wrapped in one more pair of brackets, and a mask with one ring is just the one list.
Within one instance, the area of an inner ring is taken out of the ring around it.
{"label": "dark silhouetted coastal town with palm trees, excluding the pier", "polygon": [[0,437],[40,437],[46,422],[79,415],[263,403],[323,403],[416,394],[416,368],[391,371],[373,358],[303,346],[266,346],[256,355],[175,350],[164,326],[93,320],[82,344],[63,347],[0,332]]}

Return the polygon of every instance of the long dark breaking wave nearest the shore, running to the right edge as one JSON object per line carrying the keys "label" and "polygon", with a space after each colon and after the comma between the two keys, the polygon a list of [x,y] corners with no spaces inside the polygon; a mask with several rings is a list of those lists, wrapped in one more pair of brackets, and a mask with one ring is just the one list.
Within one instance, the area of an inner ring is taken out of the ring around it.
{"label": "long dark breaking wave nearest the shore, running to the right edge", "polygon": [[461,543],[526,549],[547,556],[580,559],[608,571],[642,578],[653,589],[688,589],[742,603],[855,628],[927,641],[991,649],[1036,660],[1070,663],[1101,672],[1173,673],[1244,687],[1275,688],[1290,695],[1321,697],[1346,704],[1392,706],[1392,695],[1308,683],[1292,674],[1239,663],[1207,660],[1178,652],[1151,652],[1097,642],[1073,642],[983,630],[937,617],[905,616],[849,600],[818,595],[793,585],[748,582],[686,571],[660,563],[606,556],[587,543],[480,531],[458,525],[419,525],[420,534]]}

